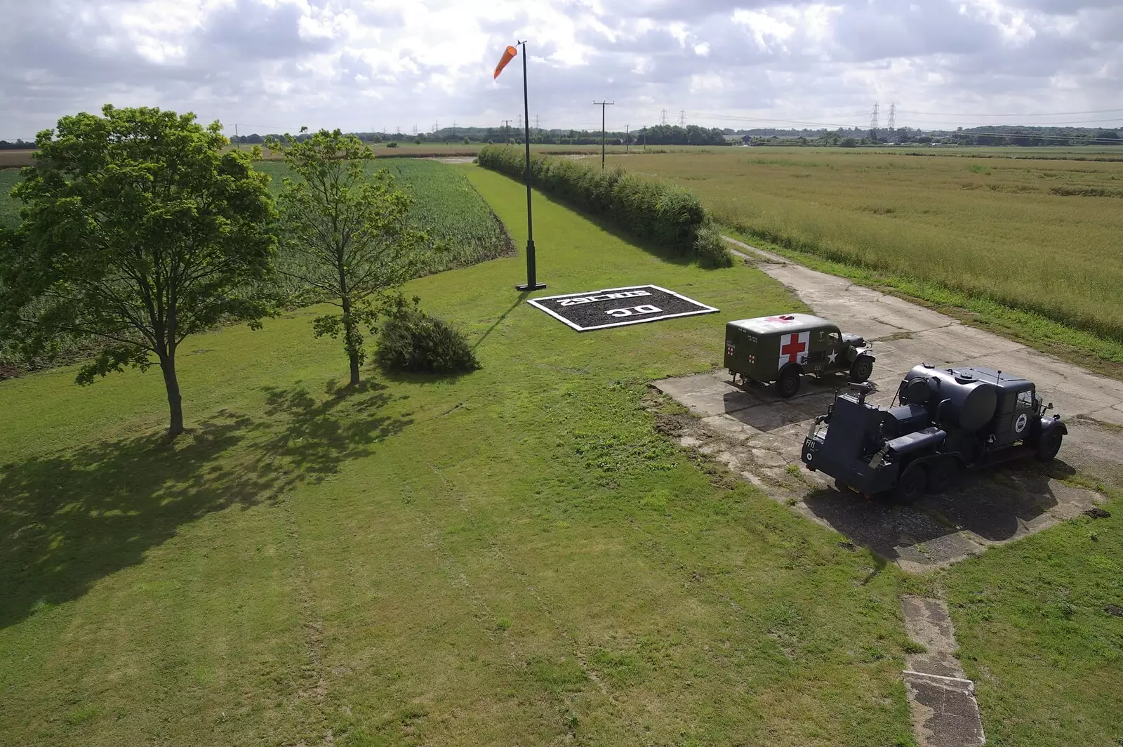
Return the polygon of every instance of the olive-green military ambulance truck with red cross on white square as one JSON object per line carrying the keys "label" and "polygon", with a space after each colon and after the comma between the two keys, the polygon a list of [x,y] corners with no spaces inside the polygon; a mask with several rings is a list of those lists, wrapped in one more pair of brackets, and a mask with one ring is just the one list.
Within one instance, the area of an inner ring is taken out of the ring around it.
{"label": "olive-green military ambulance truck with red cross on white square", "polygon": [[800,377],[847,373],[861,383],[874,371],[871,347],[859,335],[810,313],[739,319],[725,325],[725,363],[733,383],[776,382],[783,398],[800,391]]}

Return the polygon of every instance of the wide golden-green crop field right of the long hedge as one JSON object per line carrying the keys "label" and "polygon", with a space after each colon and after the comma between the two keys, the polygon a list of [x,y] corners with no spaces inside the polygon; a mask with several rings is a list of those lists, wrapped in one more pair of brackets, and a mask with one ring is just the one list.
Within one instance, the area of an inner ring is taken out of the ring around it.
{"label": "wide golden-green crop field right of the long hedge", "polygon": [[611,160],[694,190],[750,236],[1123,340],[1123,162],[975,153],[988,155],[758,147]]}

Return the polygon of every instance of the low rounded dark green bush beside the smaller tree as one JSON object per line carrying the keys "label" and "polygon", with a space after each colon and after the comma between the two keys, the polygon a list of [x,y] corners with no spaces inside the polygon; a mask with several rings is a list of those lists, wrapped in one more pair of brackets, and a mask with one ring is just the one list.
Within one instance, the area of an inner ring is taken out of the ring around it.
{"label": "low rounded dark green bush beside the smaller tree", "polygon": [[463,373],[480,367],[464,332],[399,297],[386,311],[378,330],[374,359],[386,371],[438,374]]}

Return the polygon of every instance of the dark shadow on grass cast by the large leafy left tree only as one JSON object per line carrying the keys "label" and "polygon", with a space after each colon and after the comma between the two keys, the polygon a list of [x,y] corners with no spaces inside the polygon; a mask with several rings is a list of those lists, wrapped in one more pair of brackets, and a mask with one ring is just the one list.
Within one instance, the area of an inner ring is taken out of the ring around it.
{"label": "dark shadow on grass cast by the large leafy left tree only", "polygon": [[81,596],[182,523],[273,494],[274,475],[218,459],[250,426],[220,412],[174,441],[150,434],[0,467],[0,628]]}

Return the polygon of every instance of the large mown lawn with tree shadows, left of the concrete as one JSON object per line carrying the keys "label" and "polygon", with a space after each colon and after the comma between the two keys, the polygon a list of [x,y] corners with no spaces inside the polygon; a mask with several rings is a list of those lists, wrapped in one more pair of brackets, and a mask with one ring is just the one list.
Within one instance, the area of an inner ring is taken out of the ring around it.
{"label": "large mown lawn with tree shadows, left of the concrete", "polygon": [[[521,243],[521,186],[467,171]],[[722,313],[578,335],[501,258],[408,289],[481,371],[340,399],[314,310],[228,328],[183,348],[174,446],[150,372],[0,383],[0,743],[911,744],[898,574],[641,407],[786,292],[535,215],[551,291]]]}

